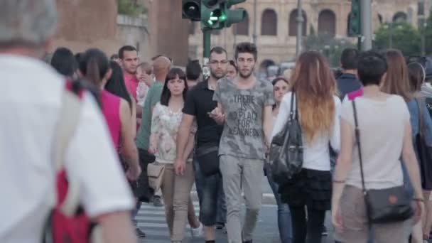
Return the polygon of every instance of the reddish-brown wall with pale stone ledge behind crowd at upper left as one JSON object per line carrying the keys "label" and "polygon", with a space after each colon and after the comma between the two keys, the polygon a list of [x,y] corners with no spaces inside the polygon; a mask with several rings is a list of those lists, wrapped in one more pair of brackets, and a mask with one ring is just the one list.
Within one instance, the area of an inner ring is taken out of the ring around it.
{"label": "reddish-brown wall with pale stone ledge behind crowd at upper left", "polygon": [[122,45],[134,45],[141,60],[149,60],[151,43],[146,16],[117,15],[117,0],[57,0],[58,31],[50,52],[65,46],[74,53],[100,48],[107,55]]}

